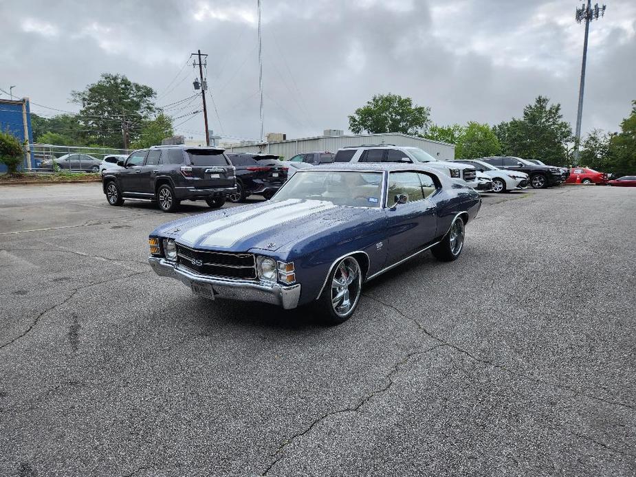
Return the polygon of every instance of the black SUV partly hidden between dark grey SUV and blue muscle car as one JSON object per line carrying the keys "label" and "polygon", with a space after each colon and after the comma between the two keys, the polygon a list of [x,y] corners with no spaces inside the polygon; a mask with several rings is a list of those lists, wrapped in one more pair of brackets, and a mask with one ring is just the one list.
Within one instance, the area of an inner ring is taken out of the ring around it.
{"label": "black SUV partly hidden between dark grey SUV and blue muscle car", "polygon": [[237,173],[237,190],[228,194],[232,202],[243,202],[248,195],[270,199],[287,180],[287,168],[277,155],[226,153]]}

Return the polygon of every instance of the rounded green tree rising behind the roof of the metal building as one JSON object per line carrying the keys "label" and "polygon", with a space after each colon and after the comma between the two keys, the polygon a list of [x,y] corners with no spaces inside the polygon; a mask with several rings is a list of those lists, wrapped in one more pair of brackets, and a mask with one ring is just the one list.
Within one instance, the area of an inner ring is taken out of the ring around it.
{"label": "rounded green tree rising behind the roof of the metal building", "polygon": [[430,108],[413,104],[411,98],[397,94],[377,94],[349,116],[353,133],[426,133]]}

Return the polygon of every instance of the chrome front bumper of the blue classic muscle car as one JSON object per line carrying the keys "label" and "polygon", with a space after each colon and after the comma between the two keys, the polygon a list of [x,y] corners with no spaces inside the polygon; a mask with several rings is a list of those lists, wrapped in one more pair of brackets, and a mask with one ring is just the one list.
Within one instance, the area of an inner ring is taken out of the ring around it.
{"label": "chrome front bumper of the blue classic muscle car", "polygon": [[255,282],[254,280],[233,280],[197,275],[190,270],[179,268],[165,258],[149,257],[148,263],[155,274],[181,280],[191,287],[192,282],[212,285],[215,298],[240,300],[247,302],[263,302],[277,304],[286,310],[298,307],[300,299],[300,283],[286,287],[278,283]]}

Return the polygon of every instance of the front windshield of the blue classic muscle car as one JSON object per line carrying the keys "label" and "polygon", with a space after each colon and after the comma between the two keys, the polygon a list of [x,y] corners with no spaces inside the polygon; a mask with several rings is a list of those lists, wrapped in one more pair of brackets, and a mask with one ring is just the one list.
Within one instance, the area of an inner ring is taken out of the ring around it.
{"label": "front windshield of the blue classic muscle car", "polygon": [[328,201],[336,206],[379,208],[382,173],[339,170],[299,170],[272,201]]}

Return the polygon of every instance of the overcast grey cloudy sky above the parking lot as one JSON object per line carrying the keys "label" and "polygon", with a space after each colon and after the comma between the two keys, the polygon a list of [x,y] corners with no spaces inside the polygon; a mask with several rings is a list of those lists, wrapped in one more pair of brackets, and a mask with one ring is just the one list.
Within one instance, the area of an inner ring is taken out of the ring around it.
{"label": "overcast grey cloudy sky above the parking lot", "polygon": [[[263,0],[265,132],[347,129],[375,93],[410,96],[437,124],[495,124],[539,94],[574,124],[579,1]],[[259,136],[256,0],[0,0],[0,88],[77,111],[70,91],[102,72],[153,87],[157,104],[193,95],[188,58],[208,53],[210,127]],[[0,96],[6,97],[6,95]],[[636,2],[608,0],[591,24],[583,131],[618,129],[636,99]],[[197,100],[166,112],[201,137]],[[32,107],[50,115],[54,109]],[[220,122],[219,122],[220,118]]]}

